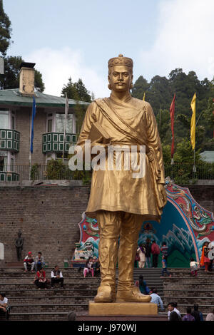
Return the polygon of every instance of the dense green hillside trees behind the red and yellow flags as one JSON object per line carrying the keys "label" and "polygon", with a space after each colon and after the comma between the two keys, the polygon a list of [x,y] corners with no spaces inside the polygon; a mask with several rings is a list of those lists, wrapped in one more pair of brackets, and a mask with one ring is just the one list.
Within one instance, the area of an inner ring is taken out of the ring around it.
{"label": "dense green hillside trees behind the red and yellow flags", "polygon": [[213,81],[208,81],[208,78],[200,81],[194,71],[186,74],[182,68],[175,68],[169,73],[168,78],[155,76],[150,83],[140,76],[134,83],[132,95],[142,99],[144,92],[146,92],[146,101],[151,103],[156,115],[163,145],[171,143],[170,104],[175,93],[175,153],[178,150],[178,144],[183,143],[183,139],[190,139],[192,117],[190,103],[196,93],[195,148],[200,148],[201,151],[214,150]]}

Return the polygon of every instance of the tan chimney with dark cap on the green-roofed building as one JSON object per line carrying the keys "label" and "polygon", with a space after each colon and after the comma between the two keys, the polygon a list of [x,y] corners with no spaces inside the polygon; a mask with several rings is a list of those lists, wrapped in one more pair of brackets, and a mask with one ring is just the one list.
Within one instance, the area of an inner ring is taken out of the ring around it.
{"label": "tan chimney with dark cap on the green-roofed building", "polygon": [[19,72],[19,92],[22,96],[34,96],[35,64],[36,63],[21,63]]}

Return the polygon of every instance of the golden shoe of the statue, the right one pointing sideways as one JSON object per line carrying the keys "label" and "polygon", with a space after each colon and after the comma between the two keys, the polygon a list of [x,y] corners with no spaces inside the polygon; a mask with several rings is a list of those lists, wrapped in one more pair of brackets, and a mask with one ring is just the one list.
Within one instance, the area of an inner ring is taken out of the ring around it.
{"label": "golden shoe of the statue, the right one pointing sideways", "polygon": [[130,290],[118,290],[116,302],[150,302],[151,296],[142,294],[137,287],[132,287]]}

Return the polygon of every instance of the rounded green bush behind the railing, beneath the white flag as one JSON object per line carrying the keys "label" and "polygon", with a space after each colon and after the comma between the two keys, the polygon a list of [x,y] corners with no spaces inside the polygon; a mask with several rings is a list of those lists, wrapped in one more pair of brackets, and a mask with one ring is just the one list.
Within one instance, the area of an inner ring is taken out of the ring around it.
{"label": "rounded green bush behind the railing, beneath the white flag", "polygon": [[46,170],[46,179],[63,180],[72,179],[72,172],[68,166],[63,164],[62,160],[49,160]]}

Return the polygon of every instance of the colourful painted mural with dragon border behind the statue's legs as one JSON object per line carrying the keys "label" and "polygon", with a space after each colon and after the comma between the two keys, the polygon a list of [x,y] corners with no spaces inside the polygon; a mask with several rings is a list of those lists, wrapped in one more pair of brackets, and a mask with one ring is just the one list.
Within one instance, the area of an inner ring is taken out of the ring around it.
{"label": "colourful painted mural with dragon border behind the statue's legs", "polygon": [[[143,222],[138,244],[154,239],[161,247],[166,242],[169,248],[168,267],[190,267],[190,257],[199,262],[205,241],[214,241],[213,213],[201,207],[188,188],[173,184],[165,179],[168,202],[163,209],[161,222]],[[98,225],[95,219],[83,213],[79,222],[80,242],[72,257],[73,266],[86,262],[88,257],[98,257]],[[214,242],[213,242],[214,243]],[[161,267],[159,257],[158,267]]]}

